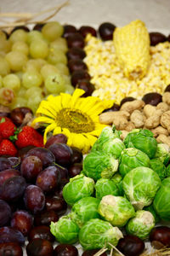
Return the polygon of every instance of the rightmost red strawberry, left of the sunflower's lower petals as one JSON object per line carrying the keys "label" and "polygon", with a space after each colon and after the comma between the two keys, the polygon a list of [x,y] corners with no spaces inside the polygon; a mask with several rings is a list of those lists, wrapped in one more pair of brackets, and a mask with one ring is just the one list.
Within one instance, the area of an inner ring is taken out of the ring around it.
{"label": "rightmost red strawberry, left of the sunflower's lower petals", "polygon": [[43,147],[43,137],[31,126],[22,127],[15,142],[18,148],[27,146]]}

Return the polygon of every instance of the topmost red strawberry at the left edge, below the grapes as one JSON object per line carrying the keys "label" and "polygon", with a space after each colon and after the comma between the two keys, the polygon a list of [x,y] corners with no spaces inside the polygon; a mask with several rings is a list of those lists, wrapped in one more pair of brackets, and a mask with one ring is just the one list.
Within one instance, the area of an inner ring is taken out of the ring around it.
{"label": "topmost red strawberry at the left edge, below the grapes", "polygon": [[11,121],[2,122],[2,120],[0,122],[0,135],[2,135],[3,138],[13,136],[16,126]]}

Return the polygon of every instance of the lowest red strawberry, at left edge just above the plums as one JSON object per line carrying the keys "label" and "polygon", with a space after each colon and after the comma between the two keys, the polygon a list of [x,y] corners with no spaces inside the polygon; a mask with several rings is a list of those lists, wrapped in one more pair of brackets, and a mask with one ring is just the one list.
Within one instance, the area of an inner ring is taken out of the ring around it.
{"label": "lowest red strawberry, at left edge just above the plums", "polygon": [[5,154],[12,156],[17,154],[17,149],[14,147],[14,144],[7,139],[3,139],[3,141],[0,143],[0,155]]}

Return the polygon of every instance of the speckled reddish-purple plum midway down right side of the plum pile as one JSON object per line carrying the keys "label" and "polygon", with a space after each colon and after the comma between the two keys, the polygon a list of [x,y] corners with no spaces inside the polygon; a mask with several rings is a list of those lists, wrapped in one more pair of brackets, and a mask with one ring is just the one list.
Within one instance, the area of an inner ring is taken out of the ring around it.
{"label": "speckled reddish-purple plum midway down right side of the plum pile", "polygon": [[50,192],[57,188],[59,181],[59,170],[55,166],[48,166],[38,174],[36,184],[43,192]]}

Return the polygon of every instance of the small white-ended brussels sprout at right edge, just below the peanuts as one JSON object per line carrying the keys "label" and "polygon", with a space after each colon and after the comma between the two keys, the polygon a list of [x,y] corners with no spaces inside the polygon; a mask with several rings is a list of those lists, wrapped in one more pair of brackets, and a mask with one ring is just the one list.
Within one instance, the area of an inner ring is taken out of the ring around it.
{"label": "small white-ended brussels sprout at right edge, just below the peanuts", "polygon": [[157,144],[155,157],[159,158],[161,162],[167,166],[167,163],[170,160],[170,147],[164,143]]}

